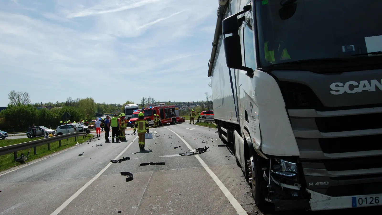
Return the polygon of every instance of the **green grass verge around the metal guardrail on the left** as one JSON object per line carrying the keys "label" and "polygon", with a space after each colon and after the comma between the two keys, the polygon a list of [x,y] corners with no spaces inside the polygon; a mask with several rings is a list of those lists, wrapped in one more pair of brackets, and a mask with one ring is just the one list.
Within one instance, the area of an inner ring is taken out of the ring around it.
{"label": "green grass verge around the metal guardrail on the left", "polygon": [[[37,158],[42,158],[44,156],[50,155],[54,152],[72,147],[72,146],[76,145],[77,142],[83,143],[86,140],[88,140],[89,137],[93,137],[93,135],[88,134],[86,138],[77,137],[77,141],[74,141],[74,137],[69,138],[68,140],[66,140],[66,139],[61,140],[61,147],[59,147],[58,141],[52,142],[52,143],[50,143],[50,150],[48,150],[47,144],[38,146],[38,147],[36,147],[37,155],[33,154],[33,148],[31,148],[31,151],[29,152],[29,158],[26,161],[26,163],[33,161],[33,160],[36,160]],[[36,139],[40,139],[40,138],[39,137],[34,138],[34,140],[36,140]],[[28,141],[31,141],[31,139],[30,138],[21,138],[21,139],[13,139],[13,140],[1,140],[0,141],[0,147],[7,146],[7,145],[13,145],[13,144],[17,144],[17,143],[24,143],[24,142],[28,142]],[[18,151],[17,156],[20,156],[21,153],[24,153],[24,155],[27,155],[28,151],[29,151],[29,149]],[[21,165],[21,163],[14,161],[13,153],[9,153],[9,154],[0,156],[0,171],[6,170],[9,168],[18,166],[18,165]]]}

